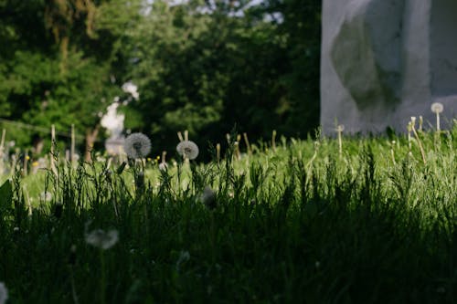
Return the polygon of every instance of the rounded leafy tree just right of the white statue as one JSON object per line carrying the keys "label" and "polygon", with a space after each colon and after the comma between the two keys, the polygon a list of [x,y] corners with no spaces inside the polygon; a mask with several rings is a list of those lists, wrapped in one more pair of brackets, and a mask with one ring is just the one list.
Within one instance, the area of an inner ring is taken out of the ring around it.
{"label": "rounded leafy tree just right of the white statue", "polygon": [[171,150],[176,131],[206,144],[235,123],[254,137],[282,123],[278,79],[286,62],[277,26],[235,16],[239,8],[230,3],[154,1],[126,44],[128,79],[141,94],[124,109],[127,128],[151,133]]}

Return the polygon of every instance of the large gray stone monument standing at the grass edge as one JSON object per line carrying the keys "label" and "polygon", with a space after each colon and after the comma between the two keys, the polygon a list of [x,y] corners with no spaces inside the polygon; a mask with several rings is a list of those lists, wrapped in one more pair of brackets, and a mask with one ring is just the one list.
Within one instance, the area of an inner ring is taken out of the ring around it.
{"label": "large gray stone monument standing at the grass edge", "polygon": [[321,124],[349,132],[406,131],[457,109],[457,1],[324,0]]}

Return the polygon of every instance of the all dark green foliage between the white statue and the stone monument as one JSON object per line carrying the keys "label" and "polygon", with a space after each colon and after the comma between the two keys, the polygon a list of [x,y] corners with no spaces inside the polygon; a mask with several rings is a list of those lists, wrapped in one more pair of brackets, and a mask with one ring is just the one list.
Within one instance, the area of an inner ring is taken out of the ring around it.
{"label": "all dark green foliage between the white statue and the stone monument", "polygon": [[[300,136],[314,130],[320,4],[297,10],[301,2],[289,1],[233,16],[246,3],[154,1],[150,14],[128,31],[124,49],[133,62],[126,79],[133,79],[141,94],[126,107],[127,128],[165,140],[166,150],[183,130],[205,134],[202,143],[221,141],[235,124],[264,138],[273,129]],[[272,11],[283,14],[284,22],[265,21]],[[302,19],[310,25],[296,33]]]}

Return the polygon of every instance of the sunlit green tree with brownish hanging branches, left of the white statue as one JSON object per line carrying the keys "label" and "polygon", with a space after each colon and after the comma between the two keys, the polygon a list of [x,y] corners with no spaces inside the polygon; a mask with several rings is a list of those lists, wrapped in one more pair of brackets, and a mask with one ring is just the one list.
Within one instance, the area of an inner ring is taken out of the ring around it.
{"label": "sunlit green tree with brownish hanging branches, left of the white statue", "polygon": [[[0,51],[2,117],[47,128],[54,123],[60,130],[75,124],[92,145],[101,113],[120,91],[113,77],[119,27],[138,14],[136,4],[139,1],[0,2],[0,37],[11,46]],[[107,16],[112,7],[122,12],[121,21]]]}

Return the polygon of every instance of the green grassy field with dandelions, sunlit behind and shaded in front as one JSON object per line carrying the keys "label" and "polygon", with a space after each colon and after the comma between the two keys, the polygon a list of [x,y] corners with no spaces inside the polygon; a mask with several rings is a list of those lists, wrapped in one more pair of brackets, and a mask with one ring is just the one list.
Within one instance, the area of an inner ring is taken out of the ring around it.
{"label": "green grassy field with dandelions, sunlit behind and shaded in front", "polygon": [[456,137],[18,172],[0,188],[0,281],[8,303],[455,303]]}

